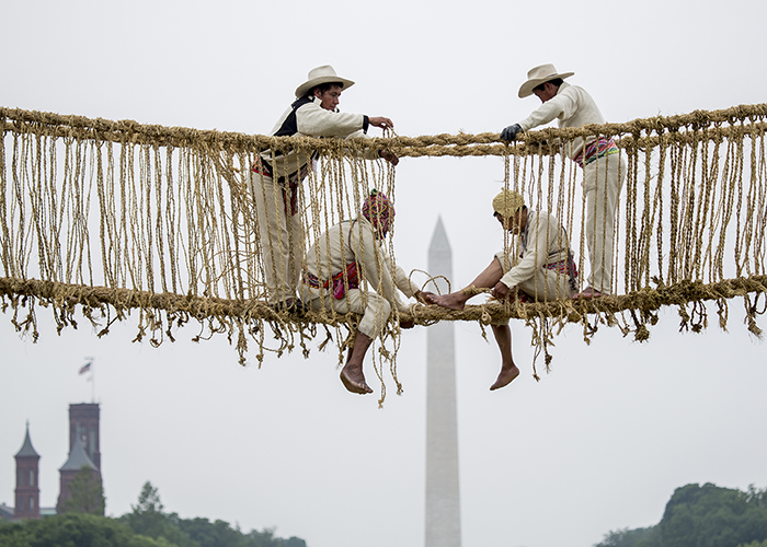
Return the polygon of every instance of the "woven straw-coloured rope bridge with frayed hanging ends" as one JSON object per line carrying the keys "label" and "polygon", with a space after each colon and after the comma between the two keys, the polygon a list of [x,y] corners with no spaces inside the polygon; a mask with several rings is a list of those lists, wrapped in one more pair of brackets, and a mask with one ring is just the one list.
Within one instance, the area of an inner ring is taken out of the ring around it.
{"label": "woven straw-coloured rope bridge with frayed hanging ends", "polygon": [[[582,324],[586,341],[599,325],[644,340],[665,305],[678,307],[682,328],[698,331],[708,324],[707,301],[717,303],[724,328],[728,300],[743,296],[748,329],[759,336],[759,298],[767,292],[765,116],[767,104],[737,106],[543,129],[507,144],[497,133],[273,138],[0,107],[2,310],[35,340],[42,305],[59,330],[76,326],[79,311],[98,336],[137,312],[136,340],[152,345],[173,340],[191,322],[199,329],[195,340],[224,334],[241,362],[249,342],[255,342],[259,362],[264,351],[283,354],[296,346],[308,356],[307,342],[318,335],[324,337],[321,348],[334,339],[343,349],[355,316],[298,316],[266,303],[260,219],[249,186],[262,152],[318,158],[299,193],[306,241],[294,243],[304,249],[333,224],[358,217],[371,189],[394,198],[393,170],[366,159],[371,152],[488,156],[499,162],[506,188],[560,219],[584,271],[583,171],[561,151],[575,139],[613,137],[628,160],[614,245],[617,295],[485,302],[461,312],[422,304],[393,310],[384,337],[393,340],[393,351],[381,344],[379,359],[390,360],[394,381],[399,319],[488,325],[519,318],[531,327],[547,368],[548,345],[566,323]],[[507,249],[512,243],[507,237]],[[377,286],[364,272],[363,281]],[[380,377],[384,365],[376,370]]]}

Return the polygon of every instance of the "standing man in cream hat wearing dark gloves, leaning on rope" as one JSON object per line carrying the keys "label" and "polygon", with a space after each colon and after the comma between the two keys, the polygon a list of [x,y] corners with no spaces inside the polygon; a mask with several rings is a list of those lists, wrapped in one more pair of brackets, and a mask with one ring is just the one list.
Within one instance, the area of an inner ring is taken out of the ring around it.
{"label": "standing man in cream hat wearing dark gloves, leaning on rope", "polygon": [[[543,103],[527,118],[501,132],[512,141],[522,131],[542,126],[557,118],[559,127],[582,127],[605,124],[599,108],[583,88],[564,82],[575,72],[558,73],[553,65],[541,65],[527,73],[519,88],[519,98],[535,94]],[[626,178],[626,160],[610,138],[579,137],[564,147],[564,153],[584,170],[583,191],[586,197],[586,244],[591,261],[588,283],[575,299],[589,299],[613,293],[613,247],[615,216],[620,189]]]}

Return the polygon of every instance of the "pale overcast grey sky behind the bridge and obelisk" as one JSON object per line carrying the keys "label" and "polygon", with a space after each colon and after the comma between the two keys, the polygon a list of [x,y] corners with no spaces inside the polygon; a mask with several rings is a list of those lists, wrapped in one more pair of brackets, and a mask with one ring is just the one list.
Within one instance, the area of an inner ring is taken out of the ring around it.
{"label": "pale overcast grey sky behind the bridge and obelisk", "polygon": [[[331,63],[357,82],[345,112],[388,116],[404,136],[476,133],[536,107],[518,86],[553,62],[608,120],[628,121],[765,102],[765,15],[756,0],[0,0],[0,105],[264,133],[308,70]],[[425,269],[440,214],[454,282],[471,281],[502,246],[488,212],[502,178],[495,158],[404,159],[398,263]],[[603,328],[586,346],[570,327],[540,383],[513,323],[523,374],[494,393],[496,348],[456,323],[463,545],[587,547],[657,523],[685,484],[767,487],[767,359],[742,310],[731,301],[730,331],[712,316],[702,335],[678,333],[665,310],[642,345]],[[242,368],[226,339],[193,344],[194,327],[154,349],[130,342],[135,318],[98,339],[38,317],[33,344],[0,316],[0,502],[13,503],[30,420],[41,501],[56,503],[67,408],[90,400],[78,369],[93,356],[108,514],[150,480],[181,516],[275,526],[309,547],[423,544],[425,328],[404,334],[405,392],[379,410],[344,391],[332,351]]]}

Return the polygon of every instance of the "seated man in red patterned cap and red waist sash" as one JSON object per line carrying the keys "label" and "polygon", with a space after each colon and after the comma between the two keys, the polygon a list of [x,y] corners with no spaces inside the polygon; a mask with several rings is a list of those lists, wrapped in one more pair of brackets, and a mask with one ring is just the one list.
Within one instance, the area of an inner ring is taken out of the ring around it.
{"label": "seated man in red patterned cap and red waist sash", "polygon": [[[363,360],[370,342],[384,330],[391,306],[404,312],[407,306],[397,294],[420,299],[420,289],[397,266],[381,245],[394,220],[391,201],[376,190],[365,199],[362,217],[343,221],[320,235],[307,253],[298,291],[305,304],[314,311],[333,310],[357,313],[363,317],[357,327],[354,347],[350,348],[341,381],[346,389],[360,395],[373,393],[365,382]],[[393,278],[392,278],[393,275]],[[374,291],[359,289],[366,280]],[[400,323],[403,328],[412,323]]]}

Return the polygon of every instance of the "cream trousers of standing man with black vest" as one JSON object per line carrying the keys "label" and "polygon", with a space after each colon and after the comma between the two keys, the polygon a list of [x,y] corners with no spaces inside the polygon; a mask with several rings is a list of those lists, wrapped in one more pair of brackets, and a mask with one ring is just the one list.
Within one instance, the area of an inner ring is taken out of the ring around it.
{"label": "cream trousers of standing man with black vest", "polygon": [[251,172],[250,175],[267,300],[276,303],[294,299],[304,263],[301,216],[285,212],[282,185],[260,173]]}

